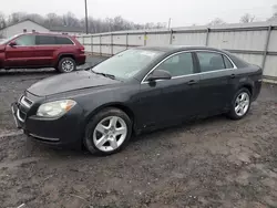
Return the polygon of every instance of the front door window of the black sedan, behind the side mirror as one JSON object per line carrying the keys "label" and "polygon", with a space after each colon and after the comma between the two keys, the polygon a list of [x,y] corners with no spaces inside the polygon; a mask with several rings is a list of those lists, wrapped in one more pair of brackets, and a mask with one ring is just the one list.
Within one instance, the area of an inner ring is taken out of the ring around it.
{"label": "front door window of the black sedan, behind the side mirror", "polygon": [[164,70],[171,73],[172,77],[194,73],[192,53],[179,53],[164,61],[156,70]]}

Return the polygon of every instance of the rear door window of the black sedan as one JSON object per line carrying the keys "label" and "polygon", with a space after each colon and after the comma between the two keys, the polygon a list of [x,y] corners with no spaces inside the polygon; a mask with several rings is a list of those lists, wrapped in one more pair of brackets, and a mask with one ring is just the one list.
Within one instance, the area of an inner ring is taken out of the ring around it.
{"label": "rear door window of the black sedan", "polygon": [[213,52],[197,52],[201,72],[211,72],[225,69],[223,55]]}

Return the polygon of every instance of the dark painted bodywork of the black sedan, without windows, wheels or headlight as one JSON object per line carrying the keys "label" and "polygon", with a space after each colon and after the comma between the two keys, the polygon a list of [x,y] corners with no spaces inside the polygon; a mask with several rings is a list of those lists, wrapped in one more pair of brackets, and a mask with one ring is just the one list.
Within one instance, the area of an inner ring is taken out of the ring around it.
{"label": "dark painted bodywork of the black sedan, without windows, wheels or headlight", "polygon": [[[259,94],[261,70],[224,51],[211,48],[143,49],[160,50],[164,53],[143,69],[135,79],[121,82],[90,72],[79,72],[53,76],[32,85],[25,95],[34,104],[30,110],[22,110],[27,114],[27,121],[22,124],[25,132],[41,137],[60,138],[59,144],[76,142],[81,144],[85,125],[105,107],[113,106],[124,111],[133,119],[134,131],[140,133],[195,116],[227,112],[235,93],[242,87],[247,87],[252,92],[253,100]],[[199,73],[199,64],[194,56],[195,74],[141,83],[164,58],[178,51],[194,50],[224,53],[232,56],[233,62],[242,67]],[[76,107],[60,118],[42,119],[35,116],[41,103],[63,98],[76,101]]]}

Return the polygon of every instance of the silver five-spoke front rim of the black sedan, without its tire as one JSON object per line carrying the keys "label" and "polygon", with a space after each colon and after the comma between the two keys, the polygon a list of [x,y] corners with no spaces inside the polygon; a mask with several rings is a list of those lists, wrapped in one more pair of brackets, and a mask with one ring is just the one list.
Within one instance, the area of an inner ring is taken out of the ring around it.
{"label": "silver five-spoke front rim of the black sedan, without its tire", "polygon": [[127,125],[119,116],[102,119],[93,132],[93,143],[102,152],[117,149],[127,136]]}

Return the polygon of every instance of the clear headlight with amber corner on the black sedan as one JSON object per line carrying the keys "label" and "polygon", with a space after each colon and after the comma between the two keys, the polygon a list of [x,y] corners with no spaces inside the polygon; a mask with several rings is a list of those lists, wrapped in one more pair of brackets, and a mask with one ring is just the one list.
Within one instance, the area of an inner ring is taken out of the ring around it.
{"label": "clear headlight with amber corner on the black sedan", "polygon": [[44,103],[39,107],[37,115],[41,117],[62,116],[66,112],[69,112],[75,104],[76,102],[72,100],[62,100]]}

